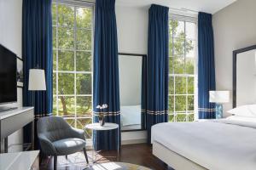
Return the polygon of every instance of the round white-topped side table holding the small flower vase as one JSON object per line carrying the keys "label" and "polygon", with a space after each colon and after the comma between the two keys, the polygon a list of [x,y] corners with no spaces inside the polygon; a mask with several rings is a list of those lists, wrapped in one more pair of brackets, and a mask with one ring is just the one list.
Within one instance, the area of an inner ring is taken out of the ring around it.
{"label": "round white-topped side table holding the small flower vase", "polygon": [[[112,123],[112,122],[106,122],[104,124],[104,126],[101,126],[100,123],[90,123],[85,125],[85,128],[90,129],[90,130],[95,130],[95,131],[110,131],[110,130],[114,130],[114,129],[118,129],[118,147],[117,147],[117,151],[118,151],[118,156],[119,156],[119,124],[116,123]],[[93,144],[93,149],[95,150],[95,145]],[[96,161],[94,161],[96,162]]]}

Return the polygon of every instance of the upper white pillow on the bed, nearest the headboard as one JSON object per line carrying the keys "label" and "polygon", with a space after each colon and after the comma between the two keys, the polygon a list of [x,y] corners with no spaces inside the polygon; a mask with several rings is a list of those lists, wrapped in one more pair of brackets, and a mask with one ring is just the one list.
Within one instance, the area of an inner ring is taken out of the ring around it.
{"label": "upper white pillow on the bed, nearest the headboard", "polygon": [[256,105],[241,105],[227,112],[236,116],[256,117]]}

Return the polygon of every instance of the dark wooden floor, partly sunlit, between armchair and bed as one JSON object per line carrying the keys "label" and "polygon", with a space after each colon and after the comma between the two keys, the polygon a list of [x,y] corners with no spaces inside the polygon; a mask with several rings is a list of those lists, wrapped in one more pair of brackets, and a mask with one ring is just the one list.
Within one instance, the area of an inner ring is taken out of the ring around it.
{"label": "dark wooden floor, partly sunlit, between armchair and bed", "polygon": [[[95,156],[93,150],[88,150],[87,154],[89,156],[89,161],[92,162],[92,156]],[[117,157],[116,151],[102,151],[98,153],[97,159],[101,158],[98,163],[108,162],[108,161],[123,161],[128,163],[133,163],[141,165],[144,167],[149,167],[155,170],[166,170],[168,167],[160,161],[158,158],[152,155],[152,147],[148,144],[129,144],[123,145],[122,149],[119,151],[119,156]],[[86,167],[86,161],[84,154],[82,152],[75,153],[73,155],[58,156],[58,169],[84,169]],[[41,161],[41,169],[53,169],[53,158],[46,157]]]}

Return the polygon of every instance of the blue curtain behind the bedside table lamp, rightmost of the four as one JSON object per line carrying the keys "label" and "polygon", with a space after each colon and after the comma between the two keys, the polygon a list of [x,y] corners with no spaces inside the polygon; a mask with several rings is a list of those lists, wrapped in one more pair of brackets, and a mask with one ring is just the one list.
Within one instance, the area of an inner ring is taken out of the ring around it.
{"label": "blue curtain behind the bedside table lamp, rightmost of the four", "polygon": [[198,113],[200,119],[215,118],[209,91],[215,90],[212,14],[198,15]]}

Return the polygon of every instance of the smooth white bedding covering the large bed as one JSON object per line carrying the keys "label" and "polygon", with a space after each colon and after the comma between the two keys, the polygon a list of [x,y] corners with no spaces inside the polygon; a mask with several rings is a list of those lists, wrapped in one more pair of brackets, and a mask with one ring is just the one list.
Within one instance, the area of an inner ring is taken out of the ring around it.
{"label": "smooth white bedding covering the large bed", "polygon": [[255,122],[160,123],[152,127],[154,141],[208,169],[256,169]]}

